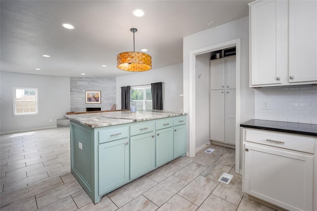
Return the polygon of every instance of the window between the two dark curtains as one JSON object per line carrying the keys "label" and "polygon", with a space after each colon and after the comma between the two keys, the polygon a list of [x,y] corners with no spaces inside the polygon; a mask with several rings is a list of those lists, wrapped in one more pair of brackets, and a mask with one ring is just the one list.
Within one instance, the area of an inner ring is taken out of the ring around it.
{"label": "window between the two dark curtains", "polygon": [[130,107],[135,106],[137,111],[152,110],[151,85],[131,86]]}

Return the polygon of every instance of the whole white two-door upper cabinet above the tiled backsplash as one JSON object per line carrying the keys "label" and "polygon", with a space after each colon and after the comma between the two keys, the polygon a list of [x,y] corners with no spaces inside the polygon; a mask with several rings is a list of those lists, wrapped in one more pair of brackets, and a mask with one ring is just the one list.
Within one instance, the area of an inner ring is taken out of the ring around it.
{"label": "whole white two-door upper cabinet above the tiled backsplash", "polygon": [[250,12],[250,87],[317,84],[317,1],[256,0]]}

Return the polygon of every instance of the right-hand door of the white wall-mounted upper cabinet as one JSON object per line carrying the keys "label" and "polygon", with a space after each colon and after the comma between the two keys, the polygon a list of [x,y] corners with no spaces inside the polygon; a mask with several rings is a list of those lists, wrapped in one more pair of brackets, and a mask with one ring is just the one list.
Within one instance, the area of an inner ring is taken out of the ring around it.
{"label": "right-hand door of the white wall-mounted upper cabinet", "polygon": [[317,81],[317,1],[289,1],[289,82]]}

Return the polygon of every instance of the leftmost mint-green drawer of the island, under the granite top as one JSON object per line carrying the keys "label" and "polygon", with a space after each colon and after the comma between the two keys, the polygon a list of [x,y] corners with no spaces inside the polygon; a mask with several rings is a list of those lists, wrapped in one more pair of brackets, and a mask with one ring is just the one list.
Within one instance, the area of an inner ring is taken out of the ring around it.
{"label": "leftmost mint-green drawer of the island, under the granite top", "polygon": [[126,138],[129,136],[129,127],[118,127],[113,129],[102,130],[98,132],[99,143]]}

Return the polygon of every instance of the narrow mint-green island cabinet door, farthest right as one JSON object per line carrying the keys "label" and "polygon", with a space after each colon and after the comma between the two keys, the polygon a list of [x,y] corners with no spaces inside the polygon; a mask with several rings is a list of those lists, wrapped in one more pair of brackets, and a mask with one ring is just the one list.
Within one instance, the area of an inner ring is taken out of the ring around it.
{"label": "narrow mint-green island cabinet door, farthest right", "polygon": [[186,154],[186,125],[174,126],[174,158]]}

